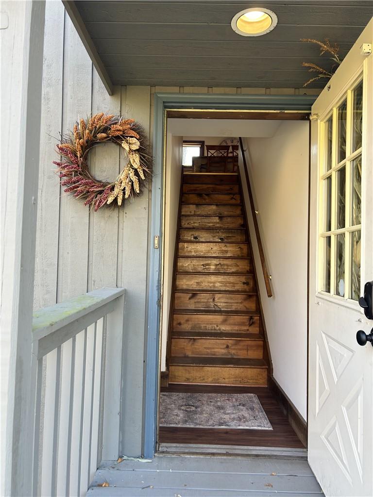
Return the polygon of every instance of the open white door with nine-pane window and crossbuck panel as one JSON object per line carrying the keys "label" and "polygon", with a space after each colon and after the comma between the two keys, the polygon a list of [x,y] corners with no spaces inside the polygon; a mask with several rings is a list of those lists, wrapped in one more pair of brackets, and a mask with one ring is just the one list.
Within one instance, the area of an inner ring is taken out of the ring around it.
{"label": "open white door with nine-pane window and crossbuck panel", "polygon": [[[326,496],[373,496],[373,20],[312,107],[308,461]],[[372,45],[371,45],[372,46]]]}

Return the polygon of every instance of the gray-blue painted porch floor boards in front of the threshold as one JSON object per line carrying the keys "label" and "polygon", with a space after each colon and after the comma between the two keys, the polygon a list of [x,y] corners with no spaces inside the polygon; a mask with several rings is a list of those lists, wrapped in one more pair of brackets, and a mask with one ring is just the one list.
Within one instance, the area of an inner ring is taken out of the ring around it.
{"label": "gray-blue painted porch floor boards in front of the threshold", "polygon": [[[98,487],[107,482],[108,487]],[[319,497],[304,460],[270,457],[157,455],[152,462],[103,461],[87,496],[154,497]]]}

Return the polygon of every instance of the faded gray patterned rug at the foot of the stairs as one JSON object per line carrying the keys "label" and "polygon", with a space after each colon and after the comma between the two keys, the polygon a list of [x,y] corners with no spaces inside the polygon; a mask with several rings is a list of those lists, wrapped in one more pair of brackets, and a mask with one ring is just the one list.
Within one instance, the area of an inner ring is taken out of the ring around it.
{"label": "faded gray patterned rug at the foot of the stairs", "polygon": [[160,426],[272,430],[255,394],[163,392]]}

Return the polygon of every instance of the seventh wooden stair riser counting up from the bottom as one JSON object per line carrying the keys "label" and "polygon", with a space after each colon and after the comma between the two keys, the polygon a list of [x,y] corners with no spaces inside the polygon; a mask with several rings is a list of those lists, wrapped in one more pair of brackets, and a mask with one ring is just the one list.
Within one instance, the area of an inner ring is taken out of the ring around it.
{"label": "seventh wooden stair riser counting up from the bottom", "polygon": [[226,244],[224,242],[179,242],[179,255],[207,255],[214,257],[247,257],[249,247],[247,244]]}

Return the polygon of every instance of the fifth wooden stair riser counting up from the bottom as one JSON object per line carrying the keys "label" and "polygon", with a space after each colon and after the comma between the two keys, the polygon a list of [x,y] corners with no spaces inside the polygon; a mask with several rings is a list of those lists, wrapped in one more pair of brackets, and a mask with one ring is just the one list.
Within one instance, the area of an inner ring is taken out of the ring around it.
{"label": "fifth wooden stair riser counting up from the bottom", "polygon": [[178,274],[176,277],[177,290],[212,290],[252,292],[254,289],[253,276],[234,276],[231,274]]}

